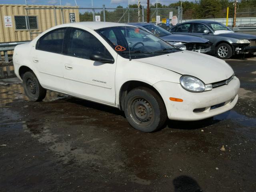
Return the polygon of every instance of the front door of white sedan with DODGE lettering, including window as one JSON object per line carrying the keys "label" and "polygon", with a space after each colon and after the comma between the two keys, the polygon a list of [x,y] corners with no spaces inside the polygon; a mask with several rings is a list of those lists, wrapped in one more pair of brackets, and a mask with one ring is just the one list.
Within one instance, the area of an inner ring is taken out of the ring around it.
{"label": "front door of white sedan with DODGE lettering, including window", "polygon": [[63,65],[68,94],[115,105],[116,62],[91,60],[90,55],[94,52],[112,56],[91,33],[77,28],[70,28],[69,31]]}

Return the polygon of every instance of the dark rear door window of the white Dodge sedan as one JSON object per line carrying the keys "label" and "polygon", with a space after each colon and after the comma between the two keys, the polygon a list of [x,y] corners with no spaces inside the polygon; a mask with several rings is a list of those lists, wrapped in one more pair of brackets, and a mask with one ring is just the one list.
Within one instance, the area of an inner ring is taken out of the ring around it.
{"label": "dark rear door window of the white Dodge sedan", "polygon": [[65,32],[66,28],[48,32],[38,40],[36,49],[52,53],[62,53]]}

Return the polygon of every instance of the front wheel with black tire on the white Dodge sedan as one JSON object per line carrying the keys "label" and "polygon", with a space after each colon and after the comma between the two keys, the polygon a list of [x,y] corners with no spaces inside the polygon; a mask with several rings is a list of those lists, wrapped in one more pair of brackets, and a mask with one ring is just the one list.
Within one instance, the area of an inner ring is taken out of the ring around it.
{"label": "front wheel with black tire on the white Dodge sedan", "polygon": [[132,127],[142,132],[153,132],[164,125],[166,108],[160,96],[146,87],[128,92],[124,100],[124,113]]}

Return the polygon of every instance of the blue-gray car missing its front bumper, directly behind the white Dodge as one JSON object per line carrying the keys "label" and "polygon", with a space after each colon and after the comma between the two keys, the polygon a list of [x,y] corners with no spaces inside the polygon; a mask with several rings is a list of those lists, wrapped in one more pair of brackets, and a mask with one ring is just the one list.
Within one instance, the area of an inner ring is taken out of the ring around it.
{"label": "blue-gray car missing its front bumper, directly behind the white Dodge", "polygon": [[212,43],[206,38],[172,34],[171,32],[168,32],[167,30],[152,23],[129,23],[129,25],[151,32],[162,40],[182,50],[206,53],[210,51],[210,46],[212,45]]}

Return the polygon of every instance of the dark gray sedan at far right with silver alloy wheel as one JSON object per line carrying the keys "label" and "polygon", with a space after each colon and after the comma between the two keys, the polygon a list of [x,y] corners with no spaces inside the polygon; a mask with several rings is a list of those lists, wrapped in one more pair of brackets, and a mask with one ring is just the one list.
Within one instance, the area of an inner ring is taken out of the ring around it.
{"label": "dark gray sedan at far right with silver alloy wheel", "polygon": [[255,35],[235,33],[219,22],[184,22],[171,28],[170,32],[207,38],[212,42],[211,53],[221,59],[229,59],[235,54],[256,52]]}

